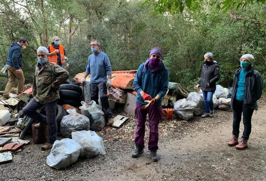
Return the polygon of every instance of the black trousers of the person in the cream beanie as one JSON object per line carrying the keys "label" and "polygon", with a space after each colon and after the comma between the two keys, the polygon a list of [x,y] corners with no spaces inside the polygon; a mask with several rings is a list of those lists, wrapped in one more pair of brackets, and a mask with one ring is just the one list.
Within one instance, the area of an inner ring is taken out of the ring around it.
{"label": "black trousers of the person in the cream beanie", "polygon": [[239,137],[239,125],[243,112],[244,131],[242,138],[248,140],[251,133],[251,118],[254,109],[248,108],[243,104],[243,101],[234,100],[233,102],[233,131],[232,134]]}

